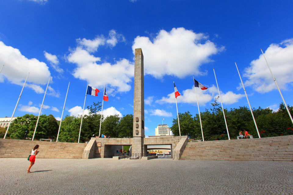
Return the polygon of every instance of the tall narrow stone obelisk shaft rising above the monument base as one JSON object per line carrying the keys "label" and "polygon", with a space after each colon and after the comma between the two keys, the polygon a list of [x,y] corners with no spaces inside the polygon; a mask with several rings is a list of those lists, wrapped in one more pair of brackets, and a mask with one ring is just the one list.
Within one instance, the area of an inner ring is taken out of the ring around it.
{"label": "tall narrow stone obelisk shaft rising above the monument base", "polygon": [[134,62],[134,100],[133,100],[133,143],[132,153],[143,156],[144,138],[144,87],[143,87],[143,52],[135,49]]}

